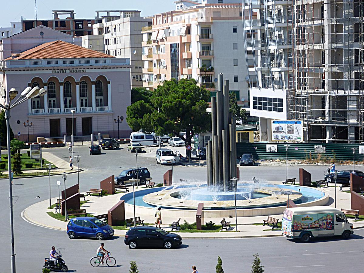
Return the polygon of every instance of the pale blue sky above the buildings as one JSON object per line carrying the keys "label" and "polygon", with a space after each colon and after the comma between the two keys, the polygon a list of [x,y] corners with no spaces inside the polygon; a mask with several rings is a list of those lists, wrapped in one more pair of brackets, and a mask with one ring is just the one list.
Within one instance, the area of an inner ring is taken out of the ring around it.
{"label": "pale blue sky above the buildings", "polygon": [[[91,19],[96,10],[137,9],[142,16],[154,15],[175,9],[175,0],[37,0],[37,19],[52,19],[52,10],[74,9],[77,18]],[[10,22],[35,19],[35,0],[0,0],[0,27],[10,27]],[[7,4],[5,4],[7,3]]]}

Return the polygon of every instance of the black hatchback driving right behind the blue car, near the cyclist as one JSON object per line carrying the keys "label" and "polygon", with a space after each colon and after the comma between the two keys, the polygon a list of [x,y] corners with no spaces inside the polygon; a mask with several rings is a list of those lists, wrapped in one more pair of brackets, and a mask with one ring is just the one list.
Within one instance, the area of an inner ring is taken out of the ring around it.
{"label": "black hatchback driving right behind the blue car, near the cyclist", "polygon": [[181,236],[166,232],[155,226],[137,226],[130,227],[125,234],[124,243],[129,248],[137,247],[164,247],[166,249],[173,248],[182,244]]}

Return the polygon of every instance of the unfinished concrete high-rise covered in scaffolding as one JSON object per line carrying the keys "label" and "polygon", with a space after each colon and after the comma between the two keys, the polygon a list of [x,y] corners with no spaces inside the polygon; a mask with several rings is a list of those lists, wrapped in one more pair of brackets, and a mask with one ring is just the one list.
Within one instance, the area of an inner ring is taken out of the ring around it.
{"label": "unfinished concrete high-rise covered in scaffolding", "polygon": [[304,122],[304,141],[363,142],[364,1],[243,4],[246,50],[254,55],[250,114],[260,117],[260,140],[272,140],[272,120],[290,119]]}

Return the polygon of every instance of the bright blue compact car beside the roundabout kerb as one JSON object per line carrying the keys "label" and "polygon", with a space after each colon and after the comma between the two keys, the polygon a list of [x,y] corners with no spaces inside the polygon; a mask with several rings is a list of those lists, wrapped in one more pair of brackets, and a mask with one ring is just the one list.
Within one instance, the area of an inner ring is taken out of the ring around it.
{"label": "bright blue compact car beside the roundabout kerb", "polygon": [[92,237],[104,240],[114,235],[114,229],[95,217],[76,217],[67,225],[68,238]]}

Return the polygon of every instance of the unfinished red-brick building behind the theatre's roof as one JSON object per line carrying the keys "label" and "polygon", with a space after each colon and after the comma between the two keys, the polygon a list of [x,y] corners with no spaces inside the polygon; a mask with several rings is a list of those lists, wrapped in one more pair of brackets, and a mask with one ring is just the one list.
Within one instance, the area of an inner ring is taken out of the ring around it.
{"label": "unfinished red-brick building behind the theatre's roof", "polygon": [[92,25],[101,22],[97,15],[96,18],[91,19],[75,18],[74,10],[54,10],[52,12],[53,19],[21,20],[22,31],[43,25],[72,36],[83,36],[91,35]]}

